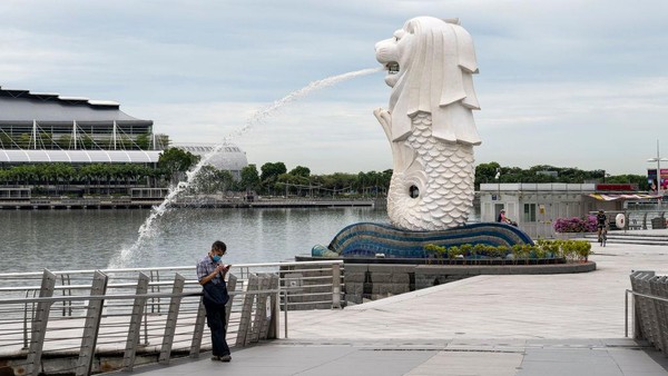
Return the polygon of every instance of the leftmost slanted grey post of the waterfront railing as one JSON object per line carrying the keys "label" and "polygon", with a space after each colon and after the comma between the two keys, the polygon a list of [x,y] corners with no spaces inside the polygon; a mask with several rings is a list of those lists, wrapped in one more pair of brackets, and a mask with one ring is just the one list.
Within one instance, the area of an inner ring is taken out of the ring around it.
{"label": "leftmost slanted grey post of the waterfront railing", "polygon": [[[40,298],[53,296],[53,287],[56,287],[56,275],[45,269],[42,275],[41,288],[39,290]],[[47,334],[47,325],[49,324],[49,310],[51,301],[39,301],[32,318],[32,334],[30,335],[30,348],[28,350],[28,369],[27,375],[37,376],[40,373],[41,354],[45,346],[45,336]]]}

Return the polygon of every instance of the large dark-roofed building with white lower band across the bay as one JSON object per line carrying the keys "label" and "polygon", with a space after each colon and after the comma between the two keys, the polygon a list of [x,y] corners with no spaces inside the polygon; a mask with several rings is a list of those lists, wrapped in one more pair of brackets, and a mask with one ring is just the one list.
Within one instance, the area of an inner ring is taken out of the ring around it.
{"label": "large dark-roofed building with white lower band across the bay", "polygon": [[160,141],[118,102],[0,87],[0,166],[156,164]]}

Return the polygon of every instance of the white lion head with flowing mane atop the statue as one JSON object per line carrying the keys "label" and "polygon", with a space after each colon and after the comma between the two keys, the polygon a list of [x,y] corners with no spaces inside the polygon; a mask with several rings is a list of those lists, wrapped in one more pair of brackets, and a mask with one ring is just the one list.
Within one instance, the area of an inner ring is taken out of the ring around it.
{"label": "white lion head with flowing mane atop the statue", "polygon": [[[411,132],[411,119],[431,113],[432,135],[443,141],[481,142],[472,110],[480,109],[472,75],[478,73],[469,32],[458,20],[418,17],[375,46],[392,87],[390,141]],[[386,130],[387,131],[387,130]]]}

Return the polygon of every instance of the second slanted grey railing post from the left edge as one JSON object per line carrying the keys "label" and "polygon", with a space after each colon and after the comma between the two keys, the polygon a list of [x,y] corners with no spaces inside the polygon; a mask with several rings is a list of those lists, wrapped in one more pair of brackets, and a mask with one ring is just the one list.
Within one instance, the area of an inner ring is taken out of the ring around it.
{"label": "second slanted grey railing post from the left edge", "polygon": [[[96,270],[92,277],[91,296],[102,296],[107,293],[108,277],[100,270]],[[76,375],[90,375],[92,367],[92,358],[95,356],[95,346],[100,330],[100,321],[102,319],[102,307],[105,299],[90,299],[88,310],[86,311],[86,323],[84,324],[84,336],[81,337],[81,352],[77,360]]]}

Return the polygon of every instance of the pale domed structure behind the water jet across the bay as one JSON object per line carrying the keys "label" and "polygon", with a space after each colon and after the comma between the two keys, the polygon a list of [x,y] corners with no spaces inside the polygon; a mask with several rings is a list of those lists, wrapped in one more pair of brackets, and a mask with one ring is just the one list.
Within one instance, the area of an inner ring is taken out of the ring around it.
{"label": "pale domed structure behind the water jet across the bay", "polygon": [[[202,158],[206,158],[219,147],[214,144],[174,144],[171,146],[200,156]],[[207,165],[212,165],[219,170],[227,170],[232,172],[235,180],[240,180],[242,169],[248,166],[248,159],[246,158],[246,152],[239,149],[238,146],[225,144],[220,147],[220,151],[210,156]]]}

